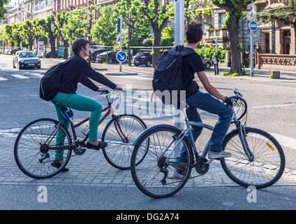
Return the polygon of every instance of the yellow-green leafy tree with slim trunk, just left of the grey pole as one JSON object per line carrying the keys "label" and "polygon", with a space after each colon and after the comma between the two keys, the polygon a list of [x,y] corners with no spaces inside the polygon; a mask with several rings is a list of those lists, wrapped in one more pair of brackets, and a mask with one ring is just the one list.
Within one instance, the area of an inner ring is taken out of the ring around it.
{"label": "yellow-green leafy tree with slim trunk, just left of the grey pole", "polygon": [[143,1],[140,3],[140,11],[149,20],[150,26],[154,32],[154,54],[152,56],[152,65],[155,66],[156,60],[160,56],[160,49],[156,48],[161,45],[161,32],[167,24],[168,20],[172,18],[175,10],[172,3],[168,0],[162,5],[160,0]]}

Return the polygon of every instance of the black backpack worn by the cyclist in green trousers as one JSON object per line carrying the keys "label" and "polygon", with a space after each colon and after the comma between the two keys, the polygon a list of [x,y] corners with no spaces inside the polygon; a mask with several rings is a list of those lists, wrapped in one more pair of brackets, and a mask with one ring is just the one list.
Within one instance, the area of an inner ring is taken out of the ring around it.
{"label": "black backpack worn by the cyclist in green trousers", "polygon": [[61,74],[64,66],[70,60],[56,64],[48,69],[40,81],[39,95],[41,99],[50,101],[59,92],[59,85],[61,83]]}

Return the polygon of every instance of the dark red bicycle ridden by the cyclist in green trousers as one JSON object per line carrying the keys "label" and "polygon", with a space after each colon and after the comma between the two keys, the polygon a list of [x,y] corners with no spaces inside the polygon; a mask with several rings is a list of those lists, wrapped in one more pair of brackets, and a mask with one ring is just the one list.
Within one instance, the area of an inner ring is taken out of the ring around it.
{"label": "dark red bicycle ridden by the cyclist in green trousers", "polygon": [[[106,160],[118,169],[130,169],[131,153],[133,142],[147,126],[144,121],[133,114],[116,115],[115,110],[119,109],[121,95],[117,91],[103,89],[108,100],[108,106],[103,109],[103,117],[100,125],[108,116],[112,119],[105,126],[102,134],[102,141],[108,143],[103,148],[103,155]],[[73,111],[63,106],[61,114],[64,117],[61,122],[51,118],[41,118],[26,125],[15,141],[15,161],[17,166],[26,174],[35,179],[50,178],[66,167],[72,151],[75,155],[82,155],[89,150],[86,141],[89,138],[89,118],[73,123]],[[64,127],[66,120],[70,121],[70,132]],[[83,127],[82,137],[77,137],[77,127]],[[52,166],[56,153],[62,154],[64,162],[58,169]]]}

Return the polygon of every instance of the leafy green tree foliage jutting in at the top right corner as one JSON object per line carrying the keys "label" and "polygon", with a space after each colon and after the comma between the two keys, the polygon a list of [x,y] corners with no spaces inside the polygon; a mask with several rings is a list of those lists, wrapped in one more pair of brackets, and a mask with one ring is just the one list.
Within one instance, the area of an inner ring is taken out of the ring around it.
{"label": "leafy green tree foliage jutting in at the top right corner", "polygon": [[267,8],[262,13],[258,13],[263,23],[280,20],[290,25],[294,29],[294,49],[296,50],[296,0],[289,0],[288,5]]}

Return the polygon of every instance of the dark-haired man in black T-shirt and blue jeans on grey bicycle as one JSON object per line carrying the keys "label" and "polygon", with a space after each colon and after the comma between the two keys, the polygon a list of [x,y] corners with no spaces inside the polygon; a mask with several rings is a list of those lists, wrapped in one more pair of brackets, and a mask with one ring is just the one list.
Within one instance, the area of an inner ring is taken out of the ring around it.
{"label": "dark-haired man in black T-shirt and blue jeans on grey bicycle", "polygon": [[[182,59],[182,90],[186,90],[186,103],[190,105],[190,107],[186,110],[186,114],[189,120],[197,122],[202,122],[197,109],[202,109],[203,111],[214,113],[219,116],[219,120],[214,126],[214,131],[212,132],[208,158],[226,158],[230,157],[231,153],[222,151],[221,144],[225,139],[225,135],[230,126],[232,109],[225,106],[223,102],[230,104],[231,107],[235,106],[235,102],[231,98],[225,97],[209,83],[209,79],[205,74],[205,67],[202,63],[202,59],[200,55],[195,52],[195,48],[202,40],[202,33],[202,24],[191,22],[186,27],[186,44],[177,45],[176,48],[178,52],[181,52],[186,48],[191,49],[193,52],[191,55],[186,55]],[[198,84],[193,80],[195,72],[198,74],[200,82],[208,93],[204,93],[199,90],[200,88]],[[194,141],[198,139],[201,132],[202,127],[192,127]],[[179,152],[177,160],[178,162],[187,162],[186,149],[184,147]],[[185,167],[180,166],[177,168],[184,169]]]}

